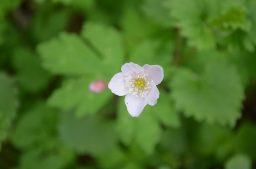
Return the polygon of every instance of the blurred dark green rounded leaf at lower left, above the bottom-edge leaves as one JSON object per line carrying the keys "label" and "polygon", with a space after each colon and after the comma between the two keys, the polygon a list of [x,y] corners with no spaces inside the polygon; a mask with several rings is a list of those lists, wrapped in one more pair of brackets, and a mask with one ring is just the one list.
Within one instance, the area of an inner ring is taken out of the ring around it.
{"label": "blurred dark green rounded leaf at lower left, above the bottom-edge leaves", "polygon": [[37,148],[38,144],[49,147],[55,142],[57,112],[44,103],[26,110],[18,120],[12,143],[19,149]]}

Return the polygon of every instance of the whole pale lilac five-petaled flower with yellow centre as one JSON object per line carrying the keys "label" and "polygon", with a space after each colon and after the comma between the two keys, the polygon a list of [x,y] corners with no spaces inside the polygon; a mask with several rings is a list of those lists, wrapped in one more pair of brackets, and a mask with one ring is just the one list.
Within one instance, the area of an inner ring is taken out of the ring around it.
{"label": "whole pale lilac five-petaled flower with yellow centre", "polygon": [[115,74],[108,88],[118,96],[125,96],[125,105],[129,114],[138,117],[144,107],[154,106],[159,97],[157,86],[163,80],[163,68],[159,65],[125,63],[121,71]]}

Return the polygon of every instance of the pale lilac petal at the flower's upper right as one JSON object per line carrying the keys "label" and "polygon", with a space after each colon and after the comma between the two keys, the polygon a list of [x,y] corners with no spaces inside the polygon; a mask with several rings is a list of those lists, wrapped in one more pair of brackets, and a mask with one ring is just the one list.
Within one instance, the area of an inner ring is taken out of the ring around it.
{"label": "pale lilac petal at the flower's upper right", "polygon": [[159,65],[148,65],[145,64],[143,66],[144,72],[148,74],[147,80],[153,82],[158,85],[163,80],[163,68]]}

